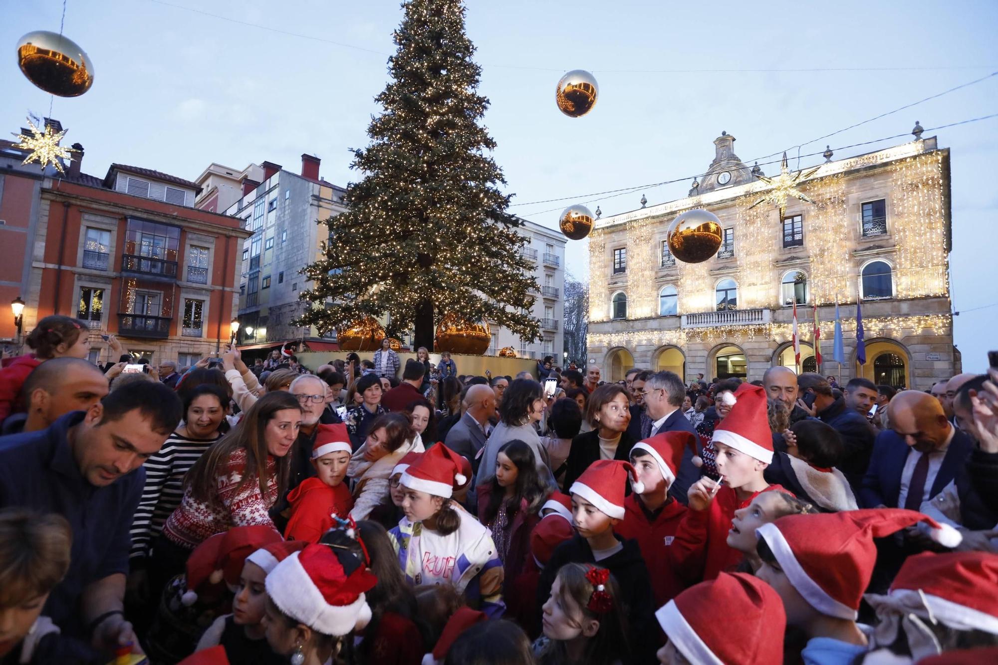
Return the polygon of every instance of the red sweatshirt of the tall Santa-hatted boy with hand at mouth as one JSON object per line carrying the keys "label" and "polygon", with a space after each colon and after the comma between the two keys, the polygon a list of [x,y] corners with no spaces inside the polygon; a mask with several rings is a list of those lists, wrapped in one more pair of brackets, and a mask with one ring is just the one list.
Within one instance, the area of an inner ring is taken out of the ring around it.
{"label": "red sweatshirt of the tall Santa-hatted boy with hand at mouth", "polygon": [[[791,493],[780,485],[769,485],[761,491],[775,489]],[[722,485],[707,510],[687,510],[667,551],[671,567],[687,586],[714,579],[742,561],[742,552],[728,546],[728,531],[735,511],[749,505],[757,494],[739,501],[734,489]]]}

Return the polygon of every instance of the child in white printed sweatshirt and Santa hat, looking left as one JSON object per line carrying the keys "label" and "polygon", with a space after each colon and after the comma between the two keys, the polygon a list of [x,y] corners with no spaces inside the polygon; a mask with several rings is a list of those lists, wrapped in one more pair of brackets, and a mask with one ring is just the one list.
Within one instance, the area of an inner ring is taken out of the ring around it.
{"label": "child in white printed sweatshirt and Santa hat, looking left", "polygon": [[503,567],[489,529],[452,501],[461,455],[434,445],[402,473],[405,518],[389,535],[410,584],[452,584],[468,604],[501,616]]}

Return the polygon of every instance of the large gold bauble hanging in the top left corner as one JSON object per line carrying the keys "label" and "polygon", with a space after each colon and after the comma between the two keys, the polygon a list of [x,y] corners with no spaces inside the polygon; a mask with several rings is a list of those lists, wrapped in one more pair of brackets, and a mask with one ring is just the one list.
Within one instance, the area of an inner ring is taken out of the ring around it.
{"label": "large gold bauble hanging in the top left corner", "polygon": [[73,40],[54,32],[29,32],[17,43],[17,64],[47,93],[79,97],[94,85],[94,63]]}

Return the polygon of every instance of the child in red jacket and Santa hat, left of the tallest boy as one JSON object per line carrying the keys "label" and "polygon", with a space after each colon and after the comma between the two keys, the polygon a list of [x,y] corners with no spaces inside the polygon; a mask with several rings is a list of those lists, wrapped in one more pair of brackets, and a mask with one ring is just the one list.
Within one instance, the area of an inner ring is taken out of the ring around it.
{"label": "child in red jacket and Santa hat, left of the tallest boy", "polygon": [[[697,436],[688,431],[665,431],[631,448],[631,463],[645,491],[624,499],[624,520],[615,529],[623,538],[634,538],[645,561],[658,561],[663,548],[672,545],[687,507],[669,495],[683,453],[696,451]],[[656,605],[664,605],[686,588],[668,566],[652,566]]]}

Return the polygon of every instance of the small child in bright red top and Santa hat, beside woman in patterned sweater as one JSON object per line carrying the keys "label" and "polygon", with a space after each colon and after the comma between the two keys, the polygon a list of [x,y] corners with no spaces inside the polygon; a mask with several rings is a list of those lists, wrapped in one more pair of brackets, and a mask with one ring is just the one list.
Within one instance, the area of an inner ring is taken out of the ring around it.
{"label": "small child in bright red top and Santa hat, beside woman in patterned sweater", "polygon": [[287,494],[291,512],[284,529],[288,540],[318,542],[333,526],[332,515],[345,515],[353,507],[350,489],[343,482],[350,462],[350,435],[346,425],[319,424],[312,444],[315,475],[305,478]]}

